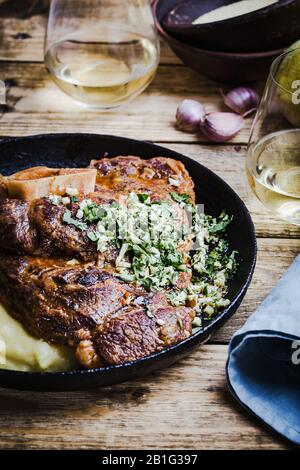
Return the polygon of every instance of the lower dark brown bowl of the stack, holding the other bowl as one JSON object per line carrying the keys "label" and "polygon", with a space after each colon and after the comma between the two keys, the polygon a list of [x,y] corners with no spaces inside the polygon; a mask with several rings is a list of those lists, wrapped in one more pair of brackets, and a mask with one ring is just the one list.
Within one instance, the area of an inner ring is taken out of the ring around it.
{"label": "lower dark brown bowl of the stack, holding the other bowl", "polygon": [[215,52],[193,47],[168,34],[162,21],[173,0],[156,0],[153,4],[157,29],[175,54],[186,65],[213,80],[223,83],[247,83],[264,80],[272,62],[283,49],[257,53]]}

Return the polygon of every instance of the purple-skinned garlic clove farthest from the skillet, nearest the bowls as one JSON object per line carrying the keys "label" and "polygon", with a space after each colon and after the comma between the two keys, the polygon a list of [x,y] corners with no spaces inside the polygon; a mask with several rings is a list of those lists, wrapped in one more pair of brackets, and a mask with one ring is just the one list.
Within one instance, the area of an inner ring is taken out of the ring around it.
{"label": "purple-skinned garlic clove farthest from the skillet, nearest the bowls", "polygon": [[232,109],[244,117],[257,110],[259,104],[259,96],[256,91],[249,87],[237,87],[229,93],[222,96],[224,103],[228,108]]}

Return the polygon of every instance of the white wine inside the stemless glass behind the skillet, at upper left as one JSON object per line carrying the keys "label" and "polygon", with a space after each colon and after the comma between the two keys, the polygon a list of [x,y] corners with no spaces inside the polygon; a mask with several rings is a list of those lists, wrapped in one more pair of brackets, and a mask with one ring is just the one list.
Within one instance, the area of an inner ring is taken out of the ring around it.
{"label": "white wine inside the stemless glass behind the skillet, at upper left", "polygon": [[86,105],[113,108],[141,93],[156,72],[158,46],[129,34],[119,42],[91,42],[88,34],[50,47],[46,67],[54,82]]}

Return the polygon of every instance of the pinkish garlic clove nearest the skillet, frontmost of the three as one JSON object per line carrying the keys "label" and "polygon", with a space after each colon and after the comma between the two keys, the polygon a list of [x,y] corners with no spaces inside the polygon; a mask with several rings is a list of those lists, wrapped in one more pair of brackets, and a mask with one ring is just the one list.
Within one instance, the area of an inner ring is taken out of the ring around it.
{"label": "pinkish garlic clove nearest the skillet, frontmost of the three", "polygon": [[243,127],[244,118],[234,113],[209,113],[200,124],[202,133],[213,142],[231,140]]}

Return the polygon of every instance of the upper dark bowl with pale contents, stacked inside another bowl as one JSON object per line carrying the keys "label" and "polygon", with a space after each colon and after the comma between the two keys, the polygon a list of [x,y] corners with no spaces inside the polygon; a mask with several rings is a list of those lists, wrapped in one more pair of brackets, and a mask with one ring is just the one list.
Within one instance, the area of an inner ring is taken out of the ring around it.
{"label": "upper dark bowl with pale contents, stacked inside another bowl", "polygon": [[164,1],[164,27],[193,46],[224,52],[261,52],[287,47],[300,37],[300,0],[278,3],[235,18],[193,25],[200,15],[240,0]]}

